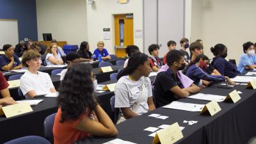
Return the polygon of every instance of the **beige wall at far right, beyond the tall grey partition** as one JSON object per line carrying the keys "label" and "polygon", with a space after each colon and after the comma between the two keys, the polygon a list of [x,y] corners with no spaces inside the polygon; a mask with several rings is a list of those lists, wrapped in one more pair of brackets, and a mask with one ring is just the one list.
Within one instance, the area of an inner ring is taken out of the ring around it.
{"label": "beige wall at far right, beyond the tall grey partition", "polygon": [[255,42],[255,5],[255,0],[193,0],[191,40],[201,38],[209,58],[213,57],[210,47],[225,44],[227,58],[238,63],[243,43]]}

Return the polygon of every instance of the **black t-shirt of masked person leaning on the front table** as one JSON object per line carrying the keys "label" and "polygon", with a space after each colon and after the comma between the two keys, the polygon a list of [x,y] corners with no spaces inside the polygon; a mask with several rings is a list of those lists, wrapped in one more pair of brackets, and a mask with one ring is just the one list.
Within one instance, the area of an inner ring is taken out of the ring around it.
{"label": "black t-shirt of masked person leaning on the front table", "polygon": [[156,108],[170,104],[172,101],[177,100],[174,93],[170,91],[174,86],[179,86],[179,79],[175,76],[172,70],[168,69],[164,72],[157,74],[154,83],[152,84],[152,92],[154,95],[154,102]]}

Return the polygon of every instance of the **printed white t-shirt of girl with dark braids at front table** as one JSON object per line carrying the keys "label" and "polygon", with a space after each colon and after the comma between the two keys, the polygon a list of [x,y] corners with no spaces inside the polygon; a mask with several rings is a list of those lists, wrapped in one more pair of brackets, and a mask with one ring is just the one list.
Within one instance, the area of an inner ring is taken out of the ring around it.
{"label": "printed white t-shirt of girl with dark braids at front table", "polygon": [[[143,78],[138,81],[132,81],[129,76],[121,77],[115,87],[115,108],[131,108],[132,112],[141,115],[148,112],[148,97],[152,97],[151,81],[148,77],[144,77],[145,90],[143,89]],[[141,95],[142,93],[142,95]],[[142,97],[138,108],[138,97]],[[136,109],[135,109],[136,108]]]}

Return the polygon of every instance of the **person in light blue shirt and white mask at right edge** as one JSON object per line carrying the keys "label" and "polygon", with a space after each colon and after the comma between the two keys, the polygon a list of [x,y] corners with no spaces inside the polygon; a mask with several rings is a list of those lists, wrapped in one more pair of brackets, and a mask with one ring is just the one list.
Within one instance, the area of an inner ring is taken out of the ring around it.
{"label": "person in light blue shirt and white mask at right edge", "polygon": [[242,54],[237,70],[241,73],[246,72],[247,70],[253,70],[256,68],[256,55],[255,47],[252,42],[246,42],[243,44],[244,54]]}

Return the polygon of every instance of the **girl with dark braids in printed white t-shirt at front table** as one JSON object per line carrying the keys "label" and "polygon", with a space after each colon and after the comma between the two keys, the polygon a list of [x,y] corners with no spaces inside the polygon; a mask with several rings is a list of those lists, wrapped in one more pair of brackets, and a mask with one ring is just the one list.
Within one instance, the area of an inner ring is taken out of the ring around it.
{"label": "girl with dark braids in printed white t-shirt at front table", "polygon": [[115,87],[115,108],[121,110],[118,122],[155,109],[149,74],[148,56],[143,53],[133,54],[119,72]]}

